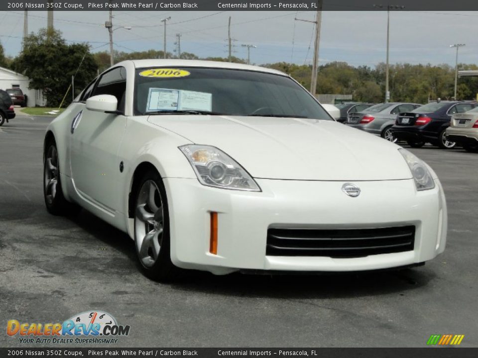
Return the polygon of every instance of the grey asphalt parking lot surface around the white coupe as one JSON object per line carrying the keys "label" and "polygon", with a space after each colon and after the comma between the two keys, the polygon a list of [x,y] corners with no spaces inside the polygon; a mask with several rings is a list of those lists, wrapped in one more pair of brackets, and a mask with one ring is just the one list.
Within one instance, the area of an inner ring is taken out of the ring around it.
{"label": "grey asphalt parking lot surface around the white coupe", "polygon": [[126,234],[86,211],[47,213],[49,121],[19,115],[0,127],[0,347],[29,347],[5,334],[10,319],[55,323],[93,309],[131,326],[117,347],[425,347],[432,334],[464,334],[462,346],[478,347],[478,155],[411,150],[448,201],[447,249],[424,267],[161,284],[140,273]]}

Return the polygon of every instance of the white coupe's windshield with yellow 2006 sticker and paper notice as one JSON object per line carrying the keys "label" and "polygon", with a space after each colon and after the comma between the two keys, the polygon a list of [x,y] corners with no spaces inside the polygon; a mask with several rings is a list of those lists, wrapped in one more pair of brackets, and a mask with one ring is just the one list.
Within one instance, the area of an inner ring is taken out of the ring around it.
{"label": "white coupe's windshield with yellow 2006 sticker and paper notice", "polygon": [[225,114],[333,120],[292,79],[217,68],[136,70],[134,114]]}

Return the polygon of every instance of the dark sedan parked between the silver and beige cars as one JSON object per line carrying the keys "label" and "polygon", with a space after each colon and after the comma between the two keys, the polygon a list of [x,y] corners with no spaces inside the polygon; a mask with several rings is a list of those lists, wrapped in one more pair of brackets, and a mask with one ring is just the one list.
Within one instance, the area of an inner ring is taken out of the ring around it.
{"label": "dark sedan parked between the silver and beige cars", "polygon": [[425,143],[451,149],[456,143],[445,136],[453,114],[464,113],[478,104],[474,102],[441,101],[425,104],[410,112],[400,113],[391,128],[393,137],[404,140],[410,147],[420,148]]}

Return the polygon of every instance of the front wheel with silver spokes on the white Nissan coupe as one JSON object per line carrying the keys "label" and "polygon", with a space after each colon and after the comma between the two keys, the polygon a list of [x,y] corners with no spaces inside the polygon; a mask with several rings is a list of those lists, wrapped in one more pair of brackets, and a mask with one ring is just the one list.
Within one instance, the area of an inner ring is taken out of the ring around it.
{"label": "front wheel with silver spokes on the white Nissan coupe", "polygon": [[[152,185],[152,183],[156,185],[155,189],[157,188],[159,191],[159,195],[156,195],[156,192],[153,195],[157,210],[151,209],[151,205],[148,203],[143,204],[144,195],[150,197],[150,194],[145,193],[150,193],[151,186],[149,188],[147,186]],[[179,278],[183,270],[177,268],[171,262],[168,200],[160,175],[154,170],[147,171],[139,181],[132,197],[134,198],[134,247],[144,275],[155,281],[170,281]],[[142,206],[144,212],[148,215],[152,215],[148,223],[140,219],[139,206]],[[160,210],[162,210],[162,214],[158,215]],[[155,224],[151,224],[151,221]],[[156,225],[161,226],[162,233],[158,234],[157,237],[156,234],[151,235],[152,238],[149,242],[157,244],[157,246],[153,245],[159,247],[159,254],[154,253],[151,244],[145,244],[146,237],[157,229]],[[143,236],[144,234],[146,235]]]}

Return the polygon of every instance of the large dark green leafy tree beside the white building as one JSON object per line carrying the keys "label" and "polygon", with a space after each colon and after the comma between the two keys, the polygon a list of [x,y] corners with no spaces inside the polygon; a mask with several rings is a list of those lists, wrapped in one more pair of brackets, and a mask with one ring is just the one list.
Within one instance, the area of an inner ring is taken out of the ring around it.
{"label": "large dark green leafy tree beside the white building", "polygon": [[[43,90],[48,106],[60,104],[73,75],[77,94],[95,78],[98,70],[89,45],[68,45],[61,32],[46,29],[26,37],[23,50],[13,65],[15,71],[30,78],[30,88]],[[65,99],[69,103],[71,95],[66,95]]]}

